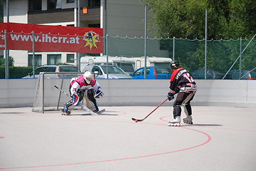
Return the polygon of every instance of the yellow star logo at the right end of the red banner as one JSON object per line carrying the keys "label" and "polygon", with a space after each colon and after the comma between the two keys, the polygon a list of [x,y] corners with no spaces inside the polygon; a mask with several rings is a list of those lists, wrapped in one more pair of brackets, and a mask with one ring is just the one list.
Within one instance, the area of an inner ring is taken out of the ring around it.
{"label": "yellow star logo at the right end of the red banner", "polygon": [[86,45],[84,47],[89,46],[90,50],[92,48],[98,48],[97,43],[101,42],[98,33],[95,33],[94,31],[85,33],[83,36],[83,41],[86,41]]}

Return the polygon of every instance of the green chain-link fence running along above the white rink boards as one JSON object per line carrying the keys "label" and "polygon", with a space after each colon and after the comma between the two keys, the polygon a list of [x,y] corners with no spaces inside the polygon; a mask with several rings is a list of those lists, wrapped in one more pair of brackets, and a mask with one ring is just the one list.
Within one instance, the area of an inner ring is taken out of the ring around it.
{"label": "green chain-link fence running along above the white rink boards", "polygon": [[[256,66],[256,41],[255,40],[210,40],[207,41],[207,50],[205,57],[204,40],[188,40],[184,38],[147,38],[146,54],[144,52],[144,38],[128,38],[107,36],[103,38],[108,50],[103,54],[86,54],[80,53],[80,68],[83,71],[85,65],[90,63],[115,64],[123,68],[127,73],[132,73],[136,69],[145,66],[145,55],[147,56],[147,66],[164,66],[168,67],[170,60],[180,61],[180,65],[187,68],[191,73],[200,70],[195,78],[204,78],[205,60],[207,79],[216,78],[216,71],[225,76],[227,71],[235,70],[251,71],[255,78]],[[4,53],[4,51],[2,51]],[[31,51],[9,51],[9,78],[23,78],[32,71],[33,61]],[[77,65],[76,53],[65,52],[35,52],[34,67],[43,65],[71,64]],[[86,61],[87,58],[87,61]],[[94,61],[93,61],[94,58]],[[114,59],[114,60],[113,60]],[[153,60],[155,59],[155,60]],[[97,62],[98,61],[98,62]],[[133,68],[127,68],[131,63]],[[0,78],[5,78],[6,60],[3,56],[0,58]],[[240,73],[242,75],[242,73]],[[252,76],[252,78],[253,78]],[[217,77],[222,79],[222,77]],[[228,75],[227,75],[227,78]]]}

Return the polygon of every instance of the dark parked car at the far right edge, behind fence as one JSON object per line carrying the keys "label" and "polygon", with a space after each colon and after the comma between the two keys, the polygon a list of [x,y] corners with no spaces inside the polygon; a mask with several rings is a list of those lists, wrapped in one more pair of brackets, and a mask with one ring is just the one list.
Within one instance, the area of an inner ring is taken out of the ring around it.
{"label": "dark parked car at the far right edge, behind fence", "polygon": [[241,70],[241,78],[240,78],[240,70],[232,70],[230,72],[232,79],[235,80],[254,80],[256,78],[256,71],[249,71],[249,70]]}

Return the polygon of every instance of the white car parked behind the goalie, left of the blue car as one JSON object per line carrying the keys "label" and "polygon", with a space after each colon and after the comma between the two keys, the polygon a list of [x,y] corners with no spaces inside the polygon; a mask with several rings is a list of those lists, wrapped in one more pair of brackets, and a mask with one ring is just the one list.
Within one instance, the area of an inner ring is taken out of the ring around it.
{"label": "white car parked behind the goalie, left of the blue car", "polygon": [[[83,72],[90,71],[95,73],[96,78],[107,78],[107,65],[87,65]],[[115,65],[108,65],[108,78],[110,79],[131,79],[125,71]]]}

